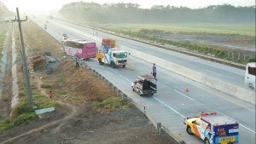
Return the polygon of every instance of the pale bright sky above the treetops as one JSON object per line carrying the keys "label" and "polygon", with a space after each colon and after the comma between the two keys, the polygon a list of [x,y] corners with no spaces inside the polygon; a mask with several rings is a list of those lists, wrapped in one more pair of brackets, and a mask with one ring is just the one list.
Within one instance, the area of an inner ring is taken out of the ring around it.
{"label": "pale bright sky above the treetops", "polygon": [[[79,2],[81,0],[0,0],[12,11],[19,7],[20,11],[26,13],[50,13],[54,10],[61,9],[66,3]],[[232,4],[234,6],[252,6],[255,0],[83,0],[84,2],[95,3],[138,3],[143,9],[149,9],[153,5],[171,5],[183,6],[191,9],[203,8],[208,5]]]}

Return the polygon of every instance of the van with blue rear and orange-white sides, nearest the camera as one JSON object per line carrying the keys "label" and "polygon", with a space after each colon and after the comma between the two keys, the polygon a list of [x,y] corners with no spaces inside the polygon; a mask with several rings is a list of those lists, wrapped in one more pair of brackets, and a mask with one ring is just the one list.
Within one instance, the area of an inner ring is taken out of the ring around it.
{"label": "van with blue rear and orange-white sides, nearest the camera", "polygon": [[185,118],[184,124],[189,135],[205,144],[238,144],[239,124],[220,112],[200,112],[199,117]]}

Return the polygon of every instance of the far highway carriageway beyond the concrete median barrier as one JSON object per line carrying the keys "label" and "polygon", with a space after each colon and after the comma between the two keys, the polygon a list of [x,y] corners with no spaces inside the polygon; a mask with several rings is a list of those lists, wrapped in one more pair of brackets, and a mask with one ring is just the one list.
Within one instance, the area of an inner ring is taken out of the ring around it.
{"label": "far highway carriageway beyond the concrete median barrier", "polygon": [[[73,28],[79,28],[80,31],[92,34],[93,31],[86,27],[74,26],[73,24],[57,20],[58,26],[71,26]],[[49,24],[50,25],[50,24]],[[65,31],[63,31],[65,33]],[[244,84],[245,71],[237,69],[231,66],[221,65],[212,61],[202,60],[195,56],[183,55],[171,50],[159,49],[152,45],[145,43],[135,42],[123,37],[117,37],[110,35],[105,32],[94,32],[97,37],[113,37],[117,40],[117,43],[122,43],[122,45],[128,45],[129,48],[137,49],[138,51],[145,52],[150,55],[158,56],[164,60],[172,61],[178,65],[188,67],[189,69],[195,70],[197,72],[202,72],[214,78],[222,79],[223,81],[230,82],[231,84],[236,84],[241,87],[247,88]]]}

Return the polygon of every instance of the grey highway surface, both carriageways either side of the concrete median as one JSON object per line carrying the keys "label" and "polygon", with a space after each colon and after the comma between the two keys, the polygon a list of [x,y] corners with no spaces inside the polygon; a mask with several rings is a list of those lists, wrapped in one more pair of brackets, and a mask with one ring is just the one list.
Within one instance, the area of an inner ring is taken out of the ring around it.
{"label": "grey highway surface, both carriageways either side of the concrete median", "polygon": [[[45,19],[33,19],[38,26],[44,28]],[[92,36],[92,31],[82,26],[76,26],[59,20],[49,20],[46,32],[56,40],[61,39],[62,33],[69,37],[96,40],[100,45],[101,37],[110,37],[109,34],[98,32]],[[180,64],[191,69],[205,72],[212,77],[224,78],[232,84],[242,85],[244,72],[242,70],[201,60],[193,56],[182,55],[172,51],[155,48],[153,46],[137,43],[121,37],[111,36],[117,39],[119,46],[126,46],[132,49],[145,51],[148,54],[165,58],[166,60],[181,61]],[[126,68],[110,68],[100,66],[94,59],[86,61],[86,65],[102,73],[114,85],[130,96],[134,101],[146,107],[146,112],[155,123],[164,124],[169,130],[179,135],[188,144],[203,143],[195,136],[188,135],[183,125],[183,118],[195,116],[198,112],[213,110],[223,112],[230,118],[236,119],[240,124],[241,144],[255,143],[255,105],[241,101],[230,95],[225,95],[215,89],[203,84],[196,83],[189,78],[184,78],[177,73],[170,72],[164,67],[157,67],[158,70],[158,93],[152,97],[140,97],[131,90],[131,82],[137,75],[149,73],[152,63],[129,55],[129,62]],[[209,72],[207,72],[207,71]],[[229,74],[226,74],[226,73]],[[186,85],[189,85],[189,93],[185,92]]]}

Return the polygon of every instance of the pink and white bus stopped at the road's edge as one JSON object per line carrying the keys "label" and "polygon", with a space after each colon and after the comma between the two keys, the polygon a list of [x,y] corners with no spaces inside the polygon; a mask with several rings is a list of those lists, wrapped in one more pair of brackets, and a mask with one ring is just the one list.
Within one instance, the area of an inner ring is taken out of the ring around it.
{"label": "pink and white bus stopped at the road's edge", "polygon": [[67,39],[63,42],[64,50],[67,55],[78,56],[79,59],[96,58],[96,43],[85,40]]}

